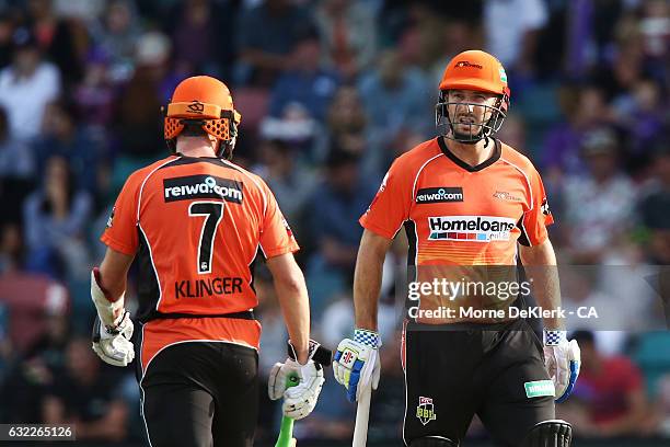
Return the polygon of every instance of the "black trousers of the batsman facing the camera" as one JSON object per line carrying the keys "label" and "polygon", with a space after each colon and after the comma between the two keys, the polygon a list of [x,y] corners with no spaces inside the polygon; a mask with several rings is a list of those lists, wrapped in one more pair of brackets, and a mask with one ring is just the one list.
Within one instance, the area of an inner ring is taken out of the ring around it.
{"label": "black trousers of the batsman facing the camera", "polygon": [[555,417],[542,344],[524,320],[405,332],[406,445],[424,436],[462,442],[476,413],[499,446],[519,446]]}

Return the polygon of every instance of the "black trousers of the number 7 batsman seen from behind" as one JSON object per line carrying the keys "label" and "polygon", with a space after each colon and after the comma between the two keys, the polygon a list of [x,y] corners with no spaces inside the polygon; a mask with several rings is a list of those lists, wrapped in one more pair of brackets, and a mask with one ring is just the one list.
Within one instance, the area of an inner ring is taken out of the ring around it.
{"label": "black trousers of the number 7 batsman seen from behind", "polygon": [[222,342],[166,347],[140,381],[152,447],[249,447],[258,416],[258,354]]}

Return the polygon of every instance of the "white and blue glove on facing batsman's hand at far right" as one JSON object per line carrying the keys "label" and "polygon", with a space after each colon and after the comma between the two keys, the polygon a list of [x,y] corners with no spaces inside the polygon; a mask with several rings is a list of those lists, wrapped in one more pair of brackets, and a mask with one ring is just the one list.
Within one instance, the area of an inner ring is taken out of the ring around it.
{"label": "white and blue glove on facing batsman's hand at far right", "polygon": [[575,388],[581,366],[577,341],[568,342],[565,331],[544,330],[544,363],[554,382],[556,403],[566,401]]}

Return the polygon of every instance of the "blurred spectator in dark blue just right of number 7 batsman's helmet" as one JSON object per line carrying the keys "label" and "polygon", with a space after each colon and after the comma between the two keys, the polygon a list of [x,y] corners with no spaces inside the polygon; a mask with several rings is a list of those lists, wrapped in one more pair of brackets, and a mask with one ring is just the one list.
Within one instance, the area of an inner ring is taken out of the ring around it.
{"label": "blurred spectator in dark blue just right of number 7 batsman's helmet", "polygon": [[319,59],[320,43],[315,35],[300,41],[290,55],[290,67],[273,88],[269,113],[284,114],[287,105],[302,105],[314,119],[323,121],[337,88],[339,76],[323,69]]}

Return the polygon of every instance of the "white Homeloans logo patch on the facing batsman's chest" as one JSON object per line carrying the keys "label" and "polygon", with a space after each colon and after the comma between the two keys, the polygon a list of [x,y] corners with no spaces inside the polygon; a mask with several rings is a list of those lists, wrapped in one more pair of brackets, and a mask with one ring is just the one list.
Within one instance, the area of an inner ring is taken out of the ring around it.
{"label": "white Homeloans logo patch on the facing batsman's chest", "polygon": [[492,242],[509,241],[513,219],[494,216],[439,216],[428,218],[428,240]]}

